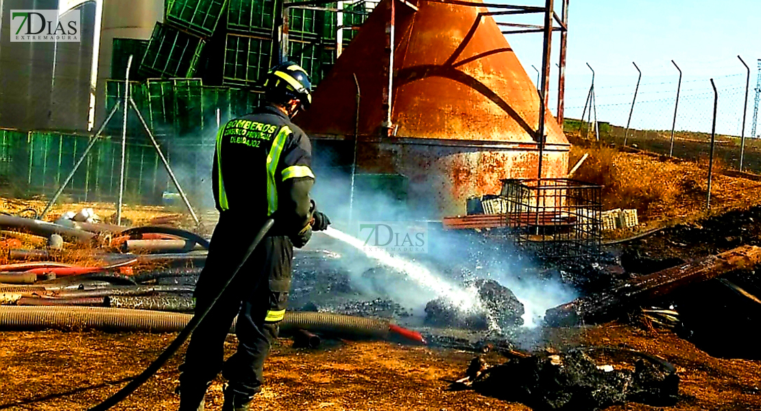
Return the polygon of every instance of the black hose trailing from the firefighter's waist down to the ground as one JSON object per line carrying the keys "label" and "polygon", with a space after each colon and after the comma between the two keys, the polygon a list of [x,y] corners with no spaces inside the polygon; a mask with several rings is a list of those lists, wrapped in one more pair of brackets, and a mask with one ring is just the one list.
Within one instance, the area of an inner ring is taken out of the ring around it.
{"label": "black hose trailing from the firefighter's waist down to the ground", "polygon": [[[172,343],[169,344],[167,349],[164,350],[164,353],[161,353],[160,356],[158,356],[157,359],[154,360],[154,362],[151,362],[151,365],[148,365],[148,368],[145,368],[145,371],[142,371],[140,375],[136,376],[135,379],[132,381],[129,381],[128,384],[126,384],[125,387],[123,387],[121,390],[117,391],[116,394],[113,394],[111,397],[108,397],[105,401],[103,401],[100,404],[97,404],[96,406],[92,407],[89,411],[104,411],[106,409],[110,409],[112,406],[115,406],[117,403],[124,400],[129,394],[132,394],[133,391],[135,391],[138,387],[140,387],[145,381],[148,381],[148,378],[151,378],[152,375],[156,373],[156,371],[161,368],[162,365],[164,365],[165,362],[167,362],[168,359],[170,359],[171,356],[174,356],[174,353],[177,353],[177,349],[180,349],[180,346],[183,345],[185,340],[187,340],[187,337],[189,337],[190,333],[193,332],[193,330],[198,327],[198,324],[205,318],[207,314],[209,314],[209,311],[212,310],[212,307],[216,304],[217,300],[221,297],[222,293],[225,289],[230,286],[234,278],[237,276],[238,271],[240,271],[240,267],[243,267],[244,264],[246,264],[246,261],[248,261],[248,258],[250,258],[251,254],[253,254],[253,250],[256,248],[257,245],[259,245],[260,242],[262,242],[262,239],[264,236],[266,236],[267,232],[269,232],[269,229],[272,228],[272,225],[275,223],[275,220],[272,220],[271,218],[267,219],[262,228],[259,229],[259,232],[256,233],[256,237],[254,237],[253,242],[251,242],[251,245],[246,250],[246,255],[244,256],[243,260],[238,263],[237,267],[233,271],[232,275],[228,279],[227,283],[224,284],[224,286],[220,289],[217,296],[215,296],[214,299],[212,299],[212,302],[207,305],[203,311],[200,313],[196,313],[196,315],[193,316],[193,318],[190,320],[190,322],[183,328],[182,331],[180,331],[180,335],[177,336],[177,338],[172,341]],[[164,227],[167,228],[167,227]],[[127,232],[129,230],[123,231],[123,235],[127,235]],[[155,232],[155,231],[154,231]],[[168,232],[164,232],[169,234]],[[196,236],[198,237],[198,236]],[[200,237],[199,237],[200,238]],[[205,241],[205,240],[204,240]],[[201,244],[199,242],[199,244]],[[206,247],[209,247],[209,242],[205,242]]]}

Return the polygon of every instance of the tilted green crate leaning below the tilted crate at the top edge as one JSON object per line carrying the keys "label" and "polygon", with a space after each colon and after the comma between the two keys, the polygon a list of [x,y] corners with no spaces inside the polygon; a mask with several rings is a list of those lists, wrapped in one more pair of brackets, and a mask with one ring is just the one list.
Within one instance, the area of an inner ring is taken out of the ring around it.
{"label": "tilted green crate leaning below the tilted crate at the top edge", "polygon": [[156,23],[140,68],[147,77],[193,77],[204,44],[198,36]]}

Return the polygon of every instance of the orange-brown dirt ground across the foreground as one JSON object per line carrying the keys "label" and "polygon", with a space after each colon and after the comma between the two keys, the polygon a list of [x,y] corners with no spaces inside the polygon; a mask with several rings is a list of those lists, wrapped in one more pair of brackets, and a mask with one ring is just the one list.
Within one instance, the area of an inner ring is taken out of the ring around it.
{"label": "orange-brown dirt ground across the foreground", "polygon": [[[0,409],[44,411],[93,406],[142,371],[174,337],[61,331],[0,335]],[[673,409],[761,409],[759,361],[716,359],[673,334],[621,324],[548,330],[545,337],[558,349],[626,347],[672,362],[681,380],[680,400]],[[231,336],[228,355],[234,347]],[[448,390],[472,358],[473,353],[386,342],[340,341],[313,351],[293,349],[289,340],[280,340],[266,363],[266,387],[253,409],[529,409],[469,390]],[[497,353],[487,356],[492,363],[501,359]],[[176,409],[180,361],[181,356],[175,356],[158,376],[113,409]],[[209,389],[206,409],[221,408],[221,389],[218,379]],[[609,409],[661,408],[629,403]]]}

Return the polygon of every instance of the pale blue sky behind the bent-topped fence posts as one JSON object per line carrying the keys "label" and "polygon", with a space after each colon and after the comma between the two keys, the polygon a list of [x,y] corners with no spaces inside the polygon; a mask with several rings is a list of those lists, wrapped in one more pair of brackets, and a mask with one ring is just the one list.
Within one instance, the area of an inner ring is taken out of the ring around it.
{"label": "pale blue sky behind the bent-topped fence posts", "polygon": [[[543,5],[526,0],[523,5]],[[556,0],[560,11],[560,0]],[[505,2],[505,4],[518,4]],[[740,134],[747,71],[750,96],[746,135],[753,114],[753,88],[761,58],[761,0],[571,0],[569,6],[566,117],[579,118],[591,83],[589,63],[596,72],[597,118],[626,125],[637,82],[636,62],[642,70],[632,128],[670,129],[678,71],[684,73],[677,129],[710,131],[713,92],[719,90],[717,132]],[[541,24],[542,17],[500,18],[498,21]],[[559,33],[552,44],[552,112],[557,92]],[[508,42],[530,77],[541,64],[541,34],[514,34]],[[761,128],[761,125],[759,125]]]}

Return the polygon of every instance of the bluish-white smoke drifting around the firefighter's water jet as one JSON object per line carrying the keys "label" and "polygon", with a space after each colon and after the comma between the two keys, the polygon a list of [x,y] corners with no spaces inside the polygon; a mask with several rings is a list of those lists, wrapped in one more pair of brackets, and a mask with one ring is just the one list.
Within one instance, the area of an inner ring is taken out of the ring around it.
{"label": "bluish-white smoke drifting around the firefighter's water jet", "polygon": [[[354,199],[350,201],[351,178],[345,169],[325,168],[316,171],[317,182],[313,197],[318,209],[330,216],[336,228],[356,236],[358,220],[412,222],[414,216],[420,215],[421,210],[409,210],[406,202],[399,201],[388,191],[373,191],[355,186]],[[355,183],[358,181],[360,179],[355,179]],[[433,199],[431,203],[434,203]],[[349,213],[354,220],[351,225]],[[336,247],[336,242],[325,236],[314,236],[310,247]],[[422,309],[431,299],[447,297],[443,289],[457,289],[455,294],[460,291],[470,292],[477,299],[474,289],[461,285],[478,278],[495,280],[514,292],[524,304],[525,327],[537,327],[541,324],[546,309],[569,302],[576,296],[575,290],[562,283],[559,277],[540,277],[540,270],[515,250],[504,236],[487,238],[482,233],[430,228],[428,252],[401,257],[416,264],[421,271],[419,276],[430,274],[441,283],[441,287],[411,280],[410,277],[415,275],[410,276],[400,270],[378,267],[377,261],[364,255],[343,254],[344,258],[337,260],[336,264],[340,264],[342,270],[349,273],[353,288],[366,293],[371,299],[393,299],[419,315],[422,315]]]}

